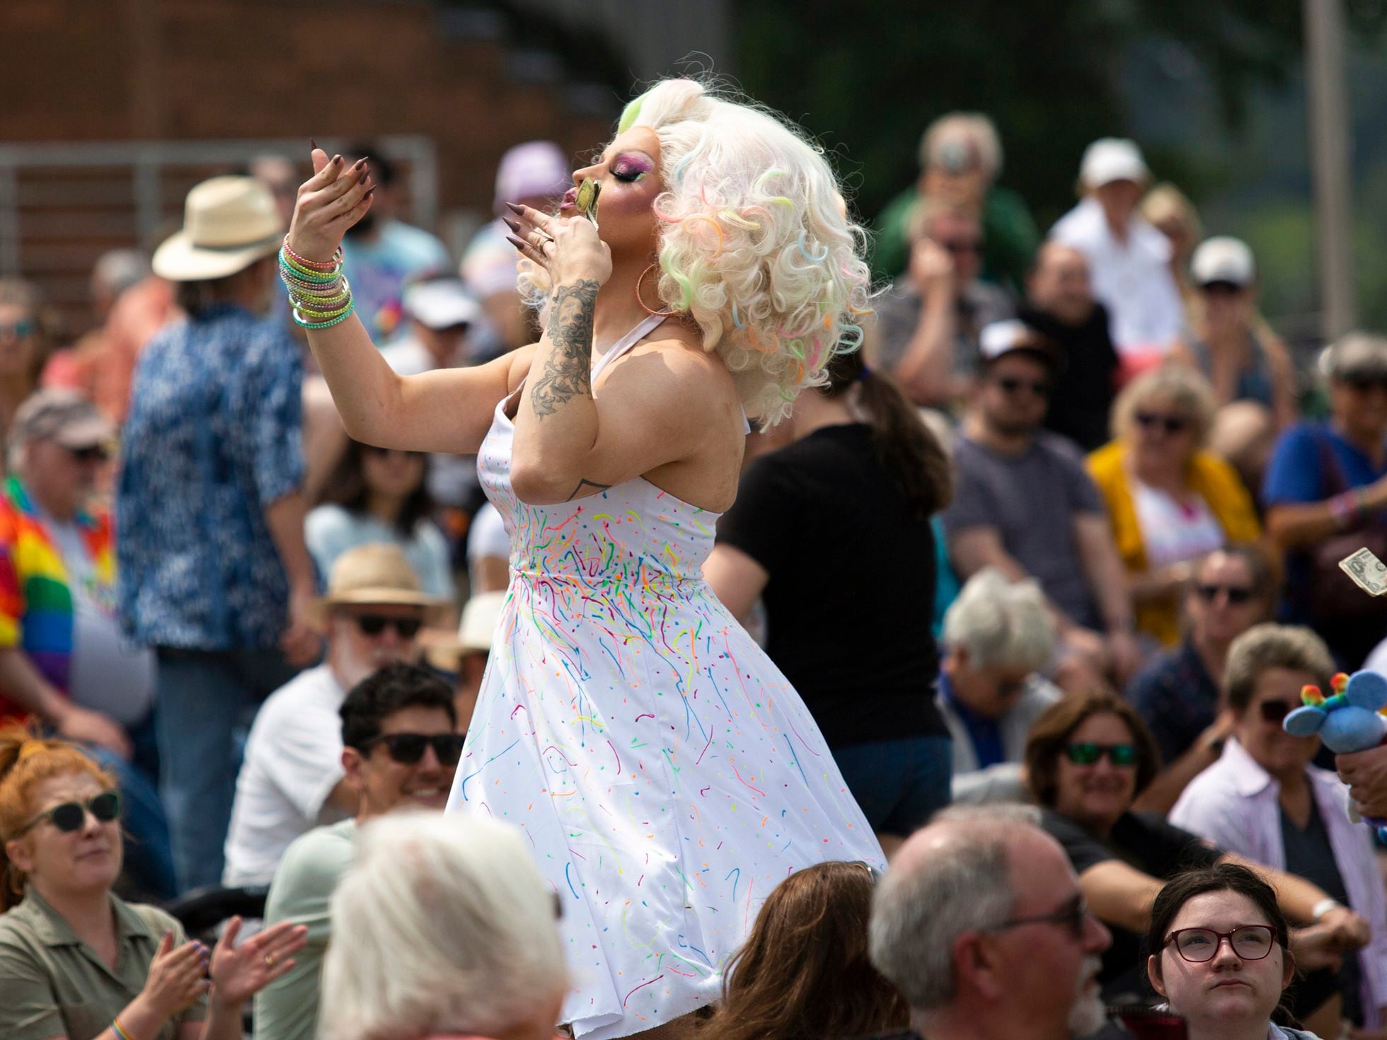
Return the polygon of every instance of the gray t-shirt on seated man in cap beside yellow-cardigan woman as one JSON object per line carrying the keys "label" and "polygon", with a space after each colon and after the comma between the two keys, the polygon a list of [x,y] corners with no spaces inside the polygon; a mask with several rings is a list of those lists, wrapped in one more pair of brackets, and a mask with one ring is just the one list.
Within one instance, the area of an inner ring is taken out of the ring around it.
{"label": "gray t-shirt on seated man in cap beside yellow-cardigan woman", "polygon": [[943,513],[949,538],[970,527],[996,528],[1003,548],[1065,614],[1080,625],[1101,628],[1074,519],[1101,513],[1103,501],[1078,449],[1049,431],[1037,433],[1031,448],[1015,456],[960,437],[954,467],[954,501]]}

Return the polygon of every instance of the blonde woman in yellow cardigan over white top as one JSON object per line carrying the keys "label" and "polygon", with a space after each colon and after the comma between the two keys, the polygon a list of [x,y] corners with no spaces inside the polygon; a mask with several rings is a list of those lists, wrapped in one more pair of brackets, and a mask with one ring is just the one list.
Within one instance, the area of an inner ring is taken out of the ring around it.
{"label": "blonde woman in yellow cardigan over white top", "polygon": [[1114,440],[1087,460],[1126,564],[1137,630],[1164,646],[1179,642],[1180,595],[1194,566],[1262,534],[1237,473],[1204,448],[1212,422],[1208,383],[1166,365],[1118,395]]}

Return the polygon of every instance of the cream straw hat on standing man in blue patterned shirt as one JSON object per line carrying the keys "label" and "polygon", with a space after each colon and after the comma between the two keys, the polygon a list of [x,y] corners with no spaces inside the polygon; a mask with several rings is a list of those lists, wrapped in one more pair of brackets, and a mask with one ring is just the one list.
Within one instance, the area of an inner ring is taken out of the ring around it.
{"label": "cream straw hat on standing man in blue patterned shirt", "polygon": [[230,277],[279,250],[283,237],[268,187],[254,177],[212,177],[187,193],[183,230],[154,251],[154,273],[169,281]]}

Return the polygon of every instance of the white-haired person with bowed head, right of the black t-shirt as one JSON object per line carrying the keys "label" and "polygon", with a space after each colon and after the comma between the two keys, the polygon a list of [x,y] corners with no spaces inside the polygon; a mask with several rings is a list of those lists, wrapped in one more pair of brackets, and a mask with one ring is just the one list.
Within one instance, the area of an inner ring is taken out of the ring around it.
{"label": "white-haired person with bowed head, right of the black t-shirt", "polygon": [[1040,674],[1058,636],[1044,593],[985,567],[945,613],[936,702],[953,736],[954,801],[1025,801],[1031,724],[1062,693]]}

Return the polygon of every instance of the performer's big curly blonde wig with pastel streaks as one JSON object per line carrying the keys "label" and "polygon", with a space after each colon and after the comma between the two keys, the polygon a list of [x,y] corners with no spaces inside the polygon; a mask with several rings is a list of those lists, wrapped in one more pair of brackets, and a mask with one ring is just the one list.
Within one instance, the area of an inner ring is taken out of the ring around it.
{"label": "performer's big curly blonde wig with pastel streaks", "polygon": [[[660,140],[659,298],[698,322],[746,412],[773,426],[861,344],[865,232],[822,148],[767,110],[666,79],[621,112],[617,133],[632,126]],[[528,261],[520,283],[531,300],[548,291]]]}

